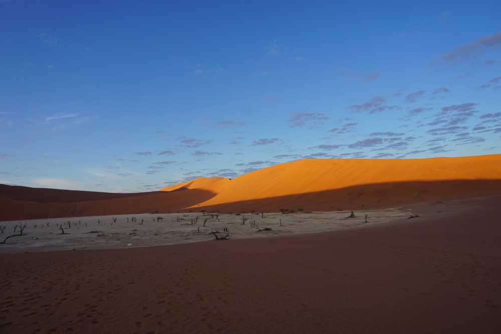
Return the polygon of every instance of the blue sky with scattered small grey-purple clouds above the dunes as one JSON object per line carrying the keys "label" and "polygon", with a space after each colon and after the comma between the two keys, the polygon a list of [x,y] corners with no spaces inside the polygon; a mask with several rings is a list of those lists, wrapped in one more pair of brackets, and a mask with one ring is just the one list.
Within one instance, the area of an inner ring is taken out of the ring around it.
{"label": "blue sky with scattered small grey-purple clouds above the dunes", "polygon": [[501,2],[0,0],[0,183],[501,153]]}

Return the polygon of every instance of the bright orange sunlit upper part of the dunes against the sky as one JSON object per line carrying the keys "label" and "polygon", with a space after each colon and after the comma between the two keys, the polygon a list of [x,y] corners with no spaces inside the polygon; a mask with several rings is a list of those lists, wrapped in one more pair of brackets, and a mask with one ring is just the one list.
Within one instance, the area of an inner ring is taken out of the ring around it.
{"label": "bright orange sunlit upper part of the dunes against the sky", "polygon": [[208,190],[216,195],[199,204],[210,206],[371,184],[499,180],[499,166],[501,155],[406,160],[305,159],[263,168],[233,180],[199,178],[162,190],[169,191],[180,186]]}

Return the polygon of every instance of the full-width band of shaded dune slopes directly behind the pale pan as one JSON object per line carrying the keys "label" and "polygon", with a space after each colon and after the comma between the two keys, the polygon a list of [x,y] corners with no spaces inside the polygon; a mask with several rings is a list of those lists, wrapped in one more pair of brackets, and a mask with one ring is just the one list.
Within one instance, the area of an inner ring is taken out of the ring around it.
{"label": "full-width band of shaded dune slopes directly behind the pale pan", "polygon": [[[56,189],[50,189],[56,190]],[[68,190],[68,192],[72,192]],[[56,191],[51,194],[64,194]],[[304,211],[335,211],[373,209],[430,200],[448,200],[501,193],[501,180],[447,180],[409,181],[361,184],[340,189],[305,192],[278,197],[233,201],[207,205],[217,200],[217,194],[208,190],[181,187],[172,191],[139,194],[116,194],[119,197],[92,200],[87,195],[70,194],[66,202],[30,201],[40,193],[33,192],[27,198],[0,197],[0,220],[39,218],[83,217],[137,213],[175,213],[219,211],[231,212],[280,212],[281,209]],[[124,195],[123,197],[121,197]],[[55,195],[54,195],[55,196]],[[83,197],[81,197],[83,196]],[[90,196],[90,195],[89,195]],[[92,196],[101,196],[92,194]],[[86,198],[87,200],[72,201]],[[209,201],[210,203],[210,201]]]}

